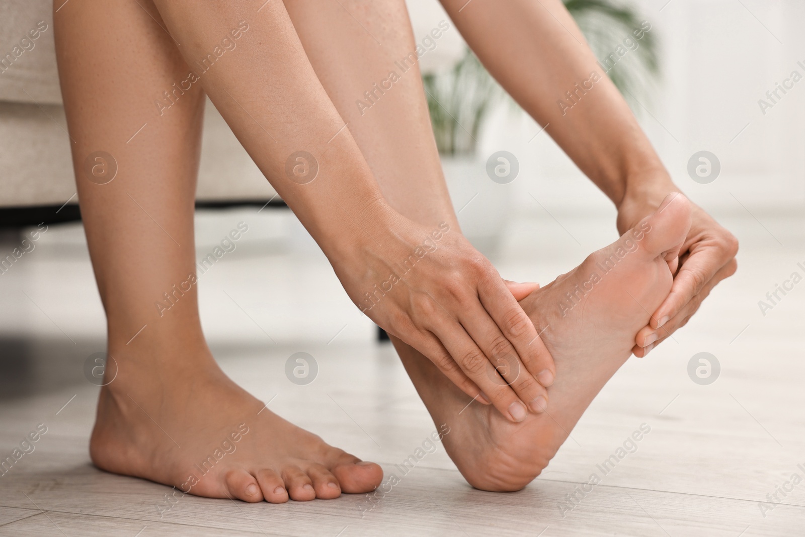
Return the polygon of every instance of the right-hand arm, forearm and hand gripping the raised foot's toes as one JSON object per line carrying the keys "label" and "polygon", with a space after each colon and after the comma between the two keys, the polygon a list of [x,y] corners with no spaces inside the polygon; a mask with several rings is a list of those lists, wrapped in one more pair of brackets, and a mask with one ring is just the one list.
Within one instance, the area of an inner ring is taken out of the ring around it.
{"label": "right-hand arm, forearm and hand gripping the raised foot's toes", "polygon": [[[489,72],[613,201],[618,233],[653,213],[669,193],[681,192],[561,0],[441,3]],[[593,72],[601,80],[576,93],[581,98],[572,109],[557,105]],[[712,288],[737,269],[737,239],[696,204],[691,209],[674,286],[637,333],[638,357],[687,324]]]}

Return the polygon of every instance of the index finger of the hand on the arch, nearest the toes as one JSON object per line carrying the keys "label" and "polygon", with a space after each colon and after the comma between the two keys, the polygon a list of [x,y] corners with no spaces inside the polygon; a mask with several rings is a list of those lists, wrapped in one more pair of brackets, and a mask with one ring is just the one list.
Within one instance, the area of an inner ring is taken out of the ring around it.
{"label": "index finger of the hand on the arch, nearest the toes", "polygon": [[503,336],[514,346],[526,370],[543,386],[551,386],[556,377],[553,357],[539,338],[534,323],[522,311],[506,286],[501,285],[501,279],[493,276],[491,279],[481,280],[478,295]]}

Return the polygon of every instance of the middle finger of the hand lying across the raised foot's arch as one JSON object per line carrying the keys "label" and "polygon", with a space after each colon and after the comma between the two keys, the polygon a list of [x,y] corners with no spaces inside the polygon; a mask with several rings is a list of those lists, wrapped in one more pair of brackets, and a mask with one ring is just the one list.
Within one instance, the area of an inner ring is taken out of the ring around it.
{"label": "middle finger of the hand lying across the raised foot's arch", "polygon": [[465,311],[458,320],[492,363],[490,380],[500,385],[508,384],[530,411],[536,414],[543,412],[547,407],[547,390],[526,370],[514,346],[503,336],[485,309],[478,304],[477,308]]}

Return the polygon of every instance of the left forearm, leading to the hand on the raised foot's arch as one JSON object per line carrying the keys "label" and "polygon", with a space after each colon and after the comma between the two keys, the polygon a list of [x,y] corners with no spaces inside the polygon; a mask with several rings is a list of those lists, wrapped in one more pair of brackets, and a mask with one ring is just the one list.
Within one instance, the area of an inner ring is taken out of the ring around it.
{"label": "left forearm, leading to the hand on the raised foot's arch", "polygon": [[[313,71],[283,2],[268,2],[258,12],[261,3],[156,2],[197,83],[326,251],[361,228],[371,233],[393,212]],[[289,165],[297,151],[313,159],[303,155]]]}

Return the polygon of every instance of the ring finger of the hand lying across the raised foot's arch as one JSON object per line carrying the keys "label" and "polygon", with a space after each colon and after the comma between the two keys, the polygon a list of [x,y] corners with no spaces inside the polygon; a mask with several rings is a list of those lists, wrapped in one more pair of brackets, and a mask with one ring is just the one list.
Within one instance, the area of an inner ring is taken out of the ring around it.
{"label": "ring finger of the hand lying across the raised foot's arch", "polygon": [[436,334],[464,374],[489,397],[494,407],[513,422],[526,419],[528,407],[506,382],[493,381],[493,375],[497,373],[464,327],[447,315],[439,316],[435,321],[431,332]]}

